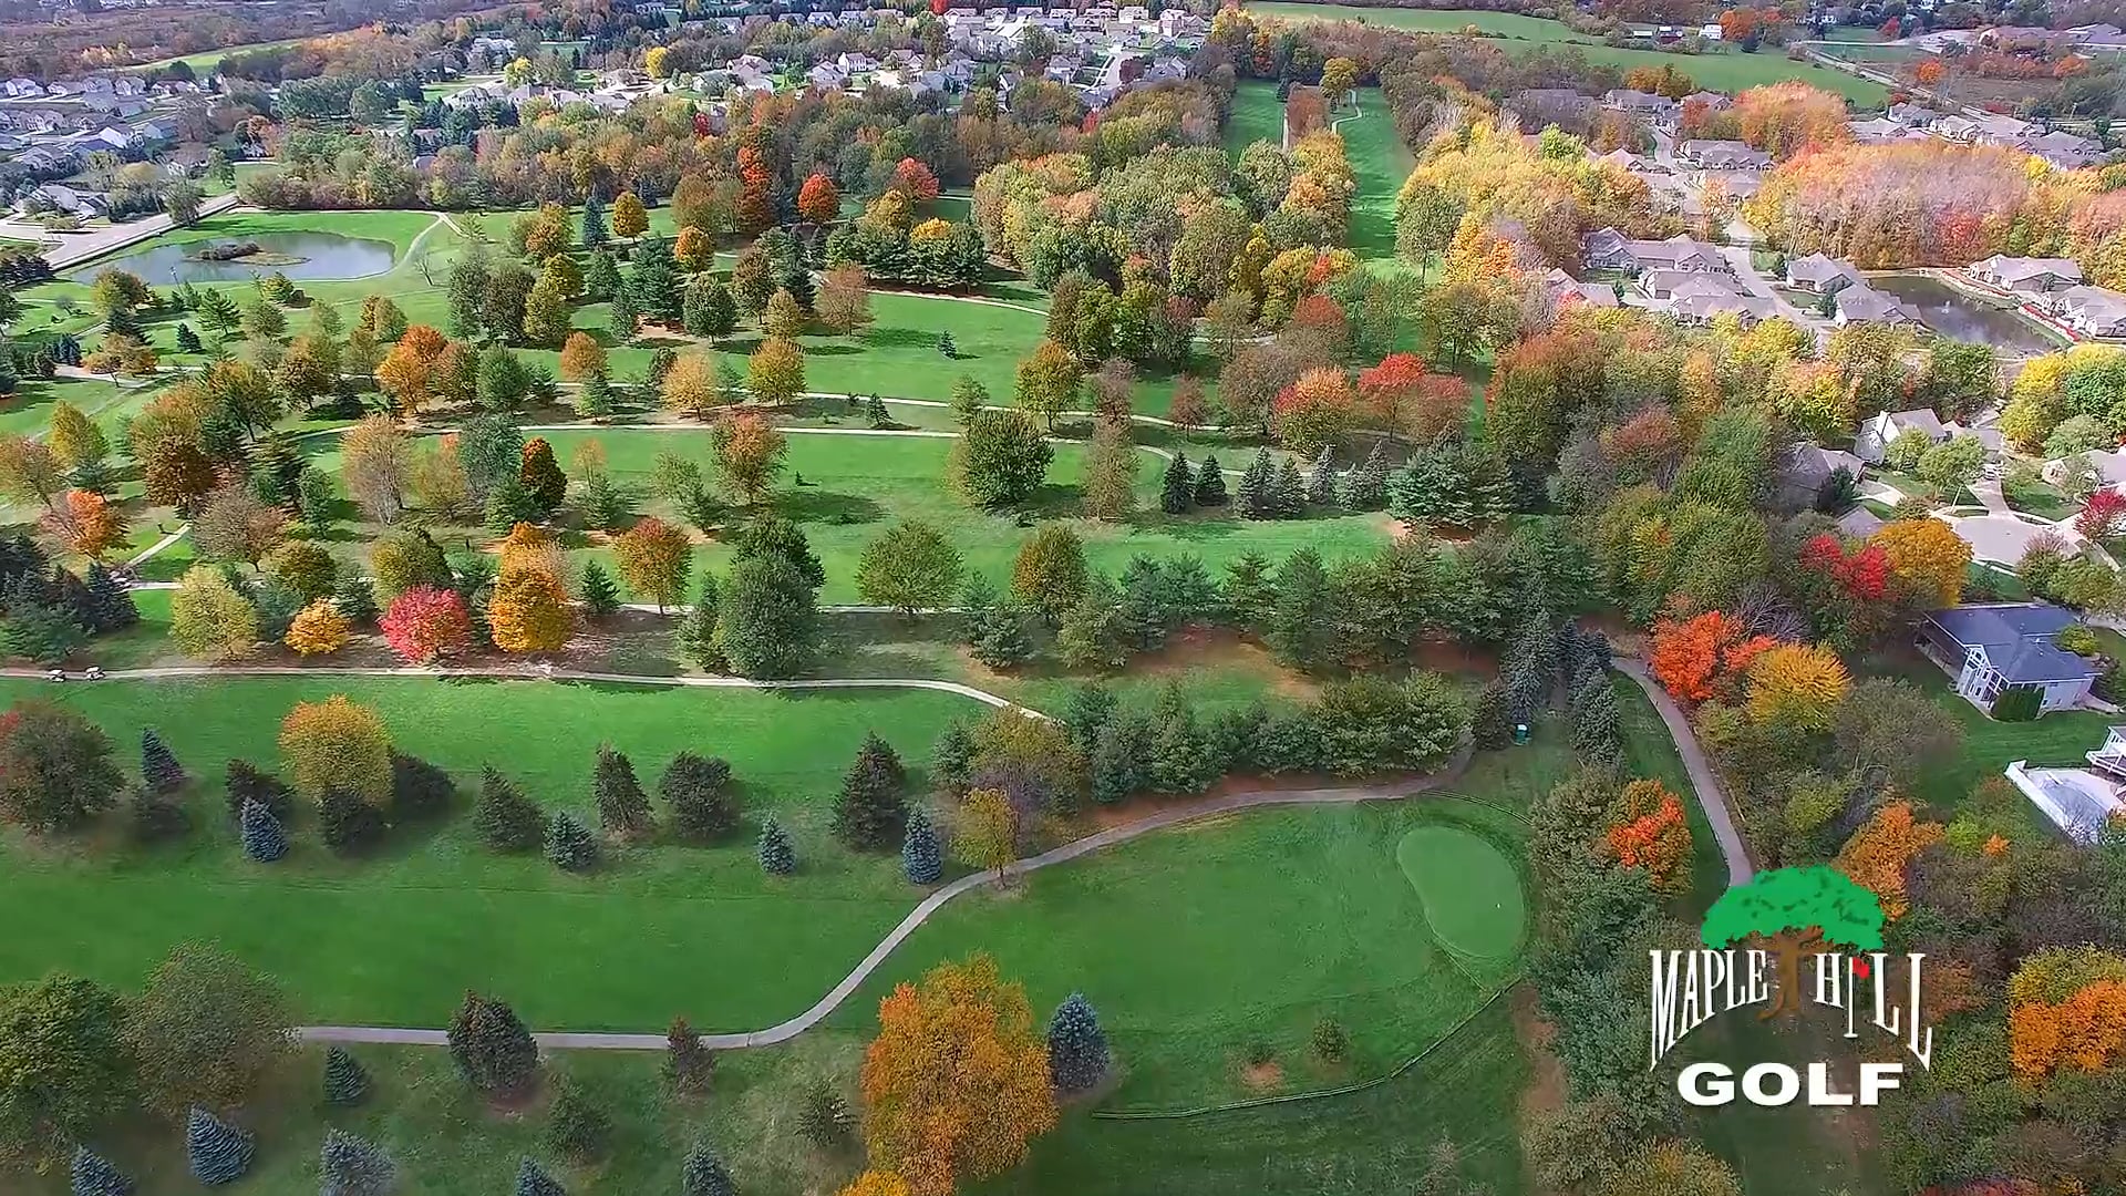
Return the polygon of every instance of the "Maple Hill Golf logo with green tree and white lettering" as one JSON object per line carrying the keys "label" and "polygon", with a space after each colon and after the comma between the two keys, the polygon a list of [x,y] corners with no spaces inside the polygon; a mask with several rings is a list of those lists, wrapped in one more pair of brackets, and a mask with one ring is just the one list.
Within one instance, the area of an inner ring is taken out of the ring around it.
{"label": "Maple Hill Golf logo with green tree and white lettering", "polygon": [[[1760,1021],[1794,1017],[1803,1004],[1845,1013],[1845,1039],[1860,1036],[1860,1021],[1899,1039],[1905,1053],[1933,1066],[1935,1028],[1920,1019],[1920,968],[1926,956],[1896,962],[1882,949],[1882,904],[1845,873],[1826,866],[1773,868],[1724,894],[1705,913],[1694,951],[1652,956],[1652,1060],[1648,1070],[1714,1017],[1762,1007]],[[1756,938],[1765,947],[1737,947]],[[1903,975],[1894,975],[1903,973]],[[1807,985],[1807,987],[1805,987]],[[1735,1068],[1697,1062],[1675,1075],[1675,1092],[1690,1104],[1782,1107],[1805,1096],[1807,1104],[1877,1104],[1899,1087],[1903,1062],[1862,1062],[1852,1083],[1833,1077],[1828,1062],[1807,1075],[1760,1062]]]}

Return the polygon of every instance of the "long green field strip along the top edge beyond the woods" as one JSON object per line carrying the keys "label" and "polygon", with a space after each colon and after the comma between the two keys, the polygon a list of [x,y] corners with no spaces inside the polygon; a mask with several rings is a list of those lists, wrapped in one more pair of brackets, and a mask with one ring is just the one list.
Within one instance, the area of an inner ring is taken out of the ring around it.
{"label": "long green field strip along the top edge beyond the woods", "polygon": [[1601,45],[1586,34],[1575,34],[1563,21],[1518,17],[1512,13],[1461,13],[1431,9],[1352,9],[1348,4],[1282,4],[1250,2],[1250,13],[1286,17],[1299,21],[1371,21],[1397,30],[1416,32],[1461,32],[1467,26],[1492,34],[1507,53],[1533,53],[1537,49],[1577,51],[1588,62],[1631,70],[1635,66],[1675,66],[1690,74],[1701,87],[1714,92],[1741,92],[1767,83],[1799,79],[1826,92],[1837,92],[1860,106],[1882,106],[1890,92],[1867,79],[1856,79],[1826,66],[1792,62],[1777,51],[1741,53],[1714,49],[1709,53],[1684,55],[1656,49],[1626,49]]}

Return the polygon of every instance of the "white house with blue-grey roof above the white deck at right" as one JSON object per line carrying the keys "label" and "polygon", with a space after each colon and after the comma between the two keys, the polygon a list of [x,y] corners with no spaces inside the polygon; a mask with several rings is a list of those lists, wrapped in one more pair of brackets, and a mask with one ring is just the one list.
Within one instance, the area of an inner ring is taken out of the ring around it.
{"label": "white house with blue-grey roof above the white deck at right", "polygon": [[2096,662],[2054,643],[2075,626],[2073,611],[2049,602],[2001,602],[1933,611],[1920,624],[1920,645],[1956,677],[1956,692],[1992,709],[2009,685],[2043,692],[2039,711],[2064,711],[2090,696]]}

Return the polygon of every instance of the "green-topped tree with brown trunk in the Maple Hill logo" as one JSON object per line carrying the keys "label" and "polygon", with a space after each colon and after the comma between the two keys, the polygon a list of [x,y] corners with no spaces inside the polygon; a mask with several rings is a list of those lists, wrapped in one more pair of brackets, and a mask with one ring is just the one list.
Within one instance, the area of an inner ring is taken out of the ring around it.
{"label": "green-topped tree with brown trunk in the Maple Hill logo", "polygon": [[1773,868],[1748,885],[1720,894],[1699,934],[1707,947],[1733,947],[1758,934],[1779,966],[1779,996],[1758,1019],[1801,1011],[1801,956],[1837,945],[1852,951],[1882,949],[1882,902],[1845,873],[1813,864]]}

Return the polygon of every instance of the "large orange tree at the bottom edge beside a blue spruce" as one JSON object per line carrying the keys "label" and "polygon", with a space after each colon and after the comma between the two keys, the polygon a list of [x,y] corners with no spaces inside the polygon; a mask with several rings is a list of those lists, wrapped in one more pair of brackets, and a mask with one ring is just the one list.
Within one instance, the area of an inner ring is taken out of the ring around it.
{"label": "large orange tree at the bottom edge beside a blue spruce", "polygon": [[863,1134],[872,1166],[910,1196],[950,1196],[963,1179],[1018,1164],[1057,1124],[1048,1045],[997,962],[938,964],[878,1002],[863,1053]]}

